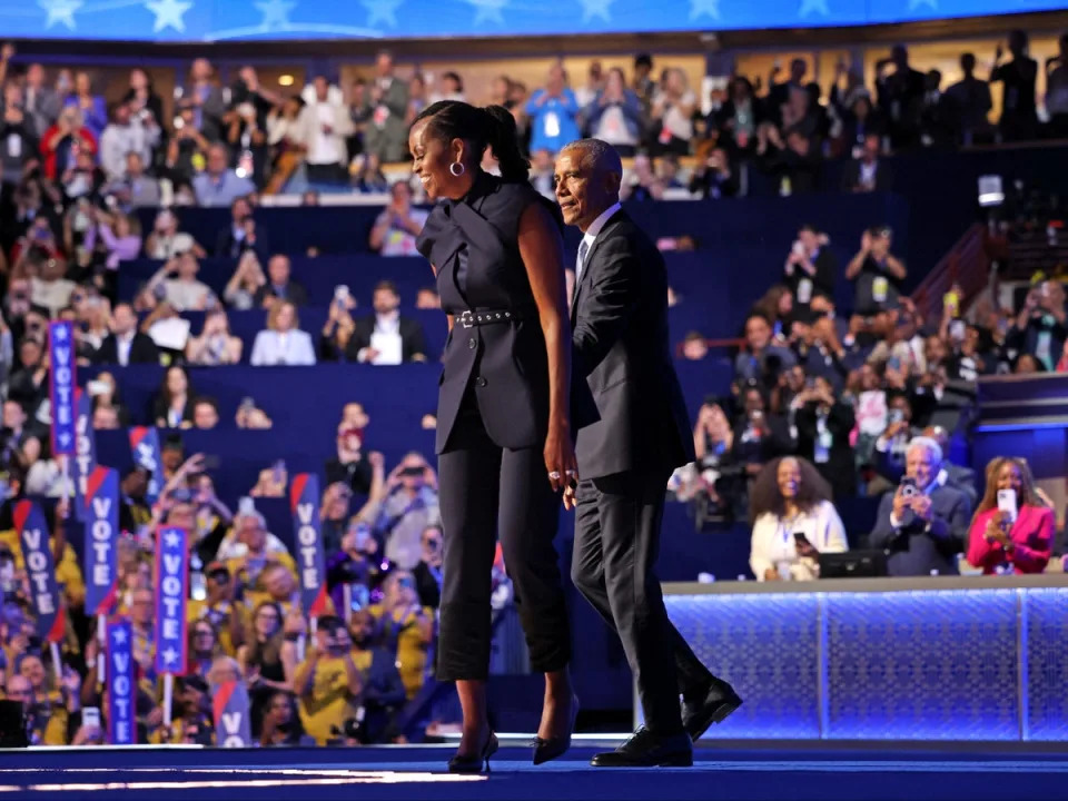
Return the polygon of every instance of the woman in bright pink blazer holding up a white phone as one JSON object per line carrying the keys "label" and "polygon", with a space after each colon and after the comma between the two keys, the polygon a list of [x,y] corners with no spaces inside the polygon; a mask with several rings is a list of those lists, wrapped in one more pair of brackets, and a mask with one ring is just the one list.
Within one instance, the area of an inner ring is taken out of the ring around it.
{"label": "woman in bright pink blazer holding up a white phone", "polygon": [[[998,508],[998,491],[1015,490],[1016,521]],[[986,574],[1002,565],[1013,573],[1041,573],[1054,546],[1054,511],[1039,497],[1022,458],[996,458],[987,466],[987,492],[968,535],[968,561]]]}

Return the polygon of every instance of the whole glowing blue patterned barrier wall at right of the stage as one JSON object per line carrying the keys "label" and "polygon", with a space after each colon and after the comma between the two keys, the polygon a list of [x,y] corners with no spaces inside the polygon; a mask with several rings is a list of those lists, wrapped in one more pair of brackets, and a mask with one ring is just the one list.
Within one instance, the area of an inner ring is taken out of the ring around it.
{"label": "whole glowing blue patterned barrier wall at right of the stage", "polygon": [[1068,585],[911,583],[840,580],[820,592],[742,584],[712,594],[668,587],[679,631],[745,699],[705,736],[1068,736]]}

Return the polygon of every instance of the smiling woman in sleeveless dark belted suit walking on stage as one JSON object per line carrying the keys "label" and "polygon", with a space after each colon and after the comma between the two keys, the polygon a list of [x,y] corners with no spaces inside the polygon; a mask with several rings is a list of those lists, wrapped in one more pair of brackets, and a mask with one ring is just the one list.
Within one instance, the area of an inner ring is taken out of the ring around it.
{"label": "smiling woman in sleeveless dark belted suit walking on stage", "polygon": [[[437,409],[445,545],[437,678],[456,682],[464,712],[449,770],[478,772],[497,748],[485,689],[495,531],[531,665],[545,673],[538,763],[567,749],[577,712],[553,547],[556,492],[577,478],[558,212],[531,188],[503,107],[434,103],[408,145],[427,196],[442,201],[418,248],[434,267],[449,328]],[[487,147],[501,178],[479,167]]]}

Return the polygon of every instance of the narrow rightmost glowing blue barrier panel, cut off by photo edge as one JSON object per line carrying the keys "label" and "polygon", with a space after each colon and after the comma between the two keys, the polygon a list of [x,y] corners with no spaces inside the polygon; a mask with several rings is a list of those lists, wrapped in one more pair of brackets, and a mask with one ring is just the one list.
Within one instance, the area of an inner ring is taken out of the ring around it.
{"label": "narrow rightmost glowing blue barrier panel, cut off by photo edge", "polygon": [[1068,741],[1068,592],[1024,596],[1029,740]]}

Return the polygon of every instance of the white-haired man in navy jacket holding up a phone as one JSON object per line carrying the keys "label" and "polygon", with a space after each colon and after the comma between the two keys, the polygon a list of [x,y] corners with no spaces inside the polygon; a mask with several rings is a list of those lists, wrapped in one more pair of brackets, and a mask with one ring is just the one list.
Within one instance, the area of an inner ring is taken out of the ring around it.
{"label": "white-haired man in navy jacket holding up a phone", "polygon": [[968,497],[946,483],[941,446],[916,437],[906,453],[901,483],[879,504],[869,545],[890,552],[891,576],[956,575],[970,514]]}

